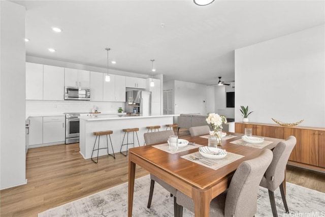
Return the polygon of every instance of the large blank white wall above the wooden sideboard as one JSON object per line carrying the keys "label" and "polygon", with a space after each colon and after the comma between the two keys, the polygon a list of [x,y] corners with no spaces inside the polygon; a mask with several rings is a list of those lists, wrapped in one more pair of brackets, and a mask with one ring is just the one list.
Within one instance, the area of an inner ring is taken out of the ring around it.
{"label": "large blank white wall above the wooden sideboard", "polygon": [[325,127],[324,25],[235,51],[235,120]]}

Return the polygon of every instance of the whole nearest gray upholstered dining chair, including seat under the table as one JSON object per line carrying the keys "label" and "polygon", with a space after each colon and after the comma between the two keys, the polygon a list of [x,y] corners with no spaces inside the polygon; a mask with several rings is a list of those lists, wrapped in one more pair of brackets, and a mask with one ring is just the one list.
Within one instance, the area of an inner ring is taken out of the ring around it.
{"label": "whole nearest gray upholstered dining chair, including seat under the table", "polygon": [[[242,162],[237,168],[228,190],[212,199],[210,216],[254,216],[257,209],[258,185],[273,158],[272,151],[263,149],[261,154]],[[176,192],[177,215],[183,215],[183,207],[194,211],[191,198]]]}

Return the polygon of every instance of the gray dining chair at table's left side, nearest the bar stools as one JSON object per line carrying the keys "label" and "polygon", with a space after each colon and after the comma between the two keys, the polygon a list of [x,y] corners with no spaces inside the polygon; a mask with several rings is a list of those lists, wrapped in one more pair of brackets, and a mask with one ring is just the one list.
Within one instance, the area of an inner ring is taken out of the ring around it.
{"label": "gray dining chair at table's left side, nearest the bar stools", "polygon": [[[173,130],[145,133],[144,141],[147,145],[159,143],[159,142],[167,142],[169,136],[171,136],[171,135],[175,135]],[[154,182],[158,182],[162,187],[164,187],[167,191],[169,191],[171,193],[171,196],[174,196],[174,212],[176,213],[176,198],[175,198],[176,189],[153,174],[150,174],[150,179],[151,179],[150,192],[149,192],[149,199],[148,199],[147,207],[150,208],[150,206],[151,206]]]}

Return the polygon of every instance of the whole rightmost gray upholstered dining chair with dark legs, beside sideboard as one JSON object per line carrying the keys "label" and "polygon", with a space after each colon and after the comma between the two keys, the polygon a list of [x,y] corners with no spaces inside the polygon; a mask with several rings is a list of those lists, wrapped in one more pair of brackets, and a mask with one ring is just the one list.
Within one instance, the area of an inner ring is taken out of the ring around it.
{"label": "whole rightmost gray upholstered dining chair with dark legs, beside sideboard", "polygon": [[285,141],[279,142],[273,149],[273,160],[262,177],[260,186],[269,190],[269,197],[273,216],[278,216],[274,200],[274,191],[280,187],[281,197],[284,209],[289,213],[288,205],[286,203],[283,181],[285,177],[285,167],[288,162],[291,151],[296,145],[297,139],[294,136],[289,136]]}

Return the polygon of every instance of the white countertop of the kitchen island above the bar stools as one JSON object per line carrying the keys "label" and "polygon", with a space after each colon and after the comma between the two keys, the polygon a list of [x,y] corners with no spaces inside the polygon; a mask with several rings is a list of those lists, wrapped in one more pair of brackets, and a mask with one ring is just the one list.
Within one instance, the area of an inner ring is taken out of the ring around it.
{"label": "white countertop of the kitchen island above the bar stools", "polygon": [[164,115],[93,115],[93,116],[80,116],[79,119],[87,121],[96,121],[96,120],[116,120],[116,119],[133,119],[133,118],[151,118],[151,117],[173,117],[179,116],[179,114],[164,114]]}

